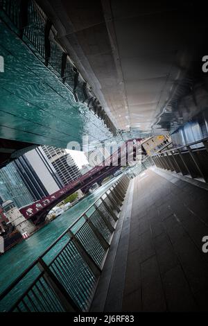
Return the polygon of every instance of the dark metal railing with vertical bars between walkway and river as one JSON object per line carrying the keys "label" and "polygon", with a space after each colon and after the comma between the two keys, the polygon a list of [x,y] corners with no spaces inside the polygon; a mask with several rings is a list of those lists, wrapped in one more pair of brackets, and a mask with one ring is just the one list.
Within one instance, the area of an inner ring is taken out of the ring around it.
{"label": "dark metal railing with vertical bars between walkway and river", "polygon": [[130,178],[121,175],[0,295],[0,311],[87,311]]}

